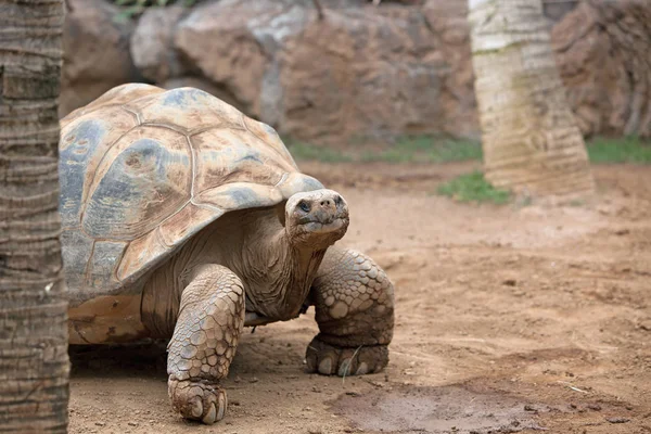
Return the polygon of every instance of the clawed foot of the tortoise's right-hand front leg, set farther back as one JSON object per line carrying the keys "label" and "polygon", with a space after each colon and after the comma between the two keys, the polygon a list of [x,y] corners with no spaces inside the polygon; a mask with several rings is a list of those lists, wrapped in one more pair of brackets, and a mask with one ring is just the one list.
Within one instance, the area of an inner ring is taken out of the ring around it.
{"label": "clawed foot of the tortoise's right-hand front leg, set farther back", "polygon": [[340,347],[316,336],[307,346],[307,371],[348,376],[380,372],[388,362],[387,345]]}

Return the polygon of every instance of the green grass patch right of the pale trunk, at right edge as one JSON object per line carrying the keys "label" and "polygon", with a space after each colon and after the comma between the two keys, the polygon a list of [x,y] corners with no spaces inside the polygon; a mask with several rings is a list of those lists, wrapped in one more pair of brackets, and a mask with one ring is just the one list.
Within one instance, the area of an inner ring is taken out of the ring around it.
{"label": "green grass patch right of the pale trunk, at right edge", "polygon": [[596,138],[587,143],[590,162],[651,164],[651,142],[636,137]]}

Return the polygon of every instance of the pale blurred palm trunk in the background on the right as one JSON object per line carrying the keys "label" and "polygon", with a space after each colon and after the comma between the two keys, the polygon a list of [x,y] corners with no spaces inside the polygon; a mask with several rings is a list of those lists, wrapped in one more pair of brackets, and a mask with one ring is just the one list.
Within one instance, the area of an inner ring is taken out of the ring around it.
{"label": "pale blurred palm trunk in the background on the right", "polygon": [[470,0],[487,179],[534,196],[593,191],[540,0]]}

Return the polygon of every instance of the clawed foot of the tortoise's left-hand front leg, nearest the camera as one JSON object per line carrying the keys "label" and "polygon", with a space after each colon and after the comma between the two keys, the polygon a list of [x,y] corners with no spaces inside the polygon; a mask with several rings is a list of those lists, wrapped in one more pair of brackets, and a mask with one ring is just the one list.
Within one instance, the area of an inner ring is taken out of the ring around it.
{"label": "clawed foot of the tortoise's left-hand front leg, nearest the camera", "polygon": [[206,380],[169,379],[169,398],[175,410],[186,419],[210,425],[224,419],[228,400],[226,391]]}

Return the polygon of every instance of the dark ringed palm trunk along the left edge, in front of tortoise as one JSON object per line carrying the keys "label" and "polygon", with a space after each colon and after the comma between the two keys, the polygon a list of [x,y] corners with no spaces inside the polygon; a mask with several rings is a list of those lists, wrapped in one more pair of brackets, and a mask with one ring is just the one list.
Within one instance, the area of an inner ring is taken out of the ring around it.
{"label": "dark ringed palm trunk along the left edge, in front of tortoise", "polygon": [[62,0],[0,0],[0,432],[67,430],[58,213]]}

